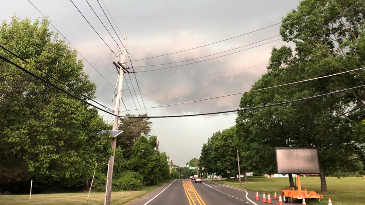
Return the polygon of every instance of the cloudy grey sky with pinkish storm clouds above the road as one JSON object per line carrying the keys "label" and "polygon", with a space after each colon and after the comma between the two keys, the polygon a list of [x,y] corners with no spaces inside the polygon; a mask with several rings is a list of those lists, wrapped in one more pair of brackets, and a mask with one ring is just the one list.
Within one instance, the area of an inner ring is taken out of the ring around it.
{"label": "cloudy grey sky with pinkish storm clouds above the road", "polygon": [[[95,101],[111,109],[118,79],[112,60],[120,58],[118,45],[123,49],[126,37],[127,61],[132,61],[128,65],[135,73],[124,75],[121,115],[147,112],[149,116],[238,109],[242,94],[219,96],[250,90],[266,72],[271,49],[292,46],[278,36],[278,23],[299,4],[297,0],[15,0],[2,2],[1,22],[10,22],[13,15],[32,22],[42,17],[30,2],[48,16],[55,27],[50,25],[50,30],[58,30],[77,49],[85,72],[97,84]],[[207,98],[214,99],[203,100]],[[190,102],[196,100],[202,101]],[[171,105],[182,102],[189,103]],[[114,120],[110,114],[100,115],[109,123]],[[236,117],[233,112],[150,121],[160,151],[175,165],[185,165],[200,157],[201,147],[214,132],[234,126]]]}

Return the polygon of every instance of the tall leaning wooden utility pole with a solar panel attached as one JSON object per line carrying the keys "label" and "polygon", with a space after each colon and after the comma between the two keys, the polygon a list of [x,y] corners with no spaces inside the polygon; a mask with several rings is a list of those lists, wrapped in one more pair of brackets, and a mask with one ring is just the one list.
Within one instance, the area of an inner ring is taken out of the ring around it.
{"label": "tall leaning wooden utility pole with a solar panel attached", "polygon": [[[115,105],[115,119],[114,119],[114,130],[118,130],[118,123],[119,123],[119,107],[120,107],[120,100],[122,99],[122,85],[123,85],[123,74],[128,72],[127,65],[126,65],[126,55],[127,55],[127,37],[124,38],[124,52],[122,54],[122,59],[120,59],[118,62],[113,61],[113,64],[119,68],[119,84],[118,84],[118,94],[116,99],[116,105]],[[116,137],[112,139],[112,155],[109,157],[109,163],[108,163],[108,175],[107,175],[107,185],[106,185],[106,191],[105,191],[105,200],[104,205],[110,205],[111,200],[111,191],[112,191],[112,178],[113,178],[113,168],[114,168],[114,152],[115,152],[115,146],[116,146]]]}

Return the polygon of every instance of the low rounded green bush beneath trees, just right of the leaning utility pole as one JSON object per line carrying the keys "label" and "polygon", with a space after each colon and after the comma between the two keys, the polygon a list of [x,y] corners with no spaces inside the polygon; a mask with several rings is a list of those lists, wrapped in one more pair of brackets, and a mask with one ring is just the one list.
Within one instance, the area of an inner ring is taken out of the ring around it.
{"label": "low rounded green bush beneath trees, just right of the leaning utility pole", "polygon": [[134,172],[127,171],[123,173],[123,176],[113,180],[112,189],[117,190],[140,190],[143,187],[142,175]]}

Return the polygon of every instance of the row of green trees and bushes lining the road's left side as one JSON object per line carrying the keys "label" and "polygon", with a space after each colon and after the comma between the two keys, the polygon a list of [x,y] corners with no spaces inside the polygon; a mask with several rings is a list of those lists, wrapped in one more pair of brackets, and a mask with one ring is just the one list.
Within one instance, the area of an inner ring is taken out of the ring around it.
{"label": "row of green trees and bushes lining the road's left side", "polygon": [[[29,193],[31,180],[33,193],[87,190],[95,166],[93,189],[104,191],[111,135],[99,133],[112,126],[85,103],[95,99],[96,85],[77,52],[48,27],[46,19],[32,24],[16,16],[0,27],[0,45],[15,53],[0,48],[0,193]],[[130,128],[123,120],[113,189],[140,189],[169,178],[166,154],[154,151],[155,137],[146,138],[146,119],[126,119],[135,125]]]}

